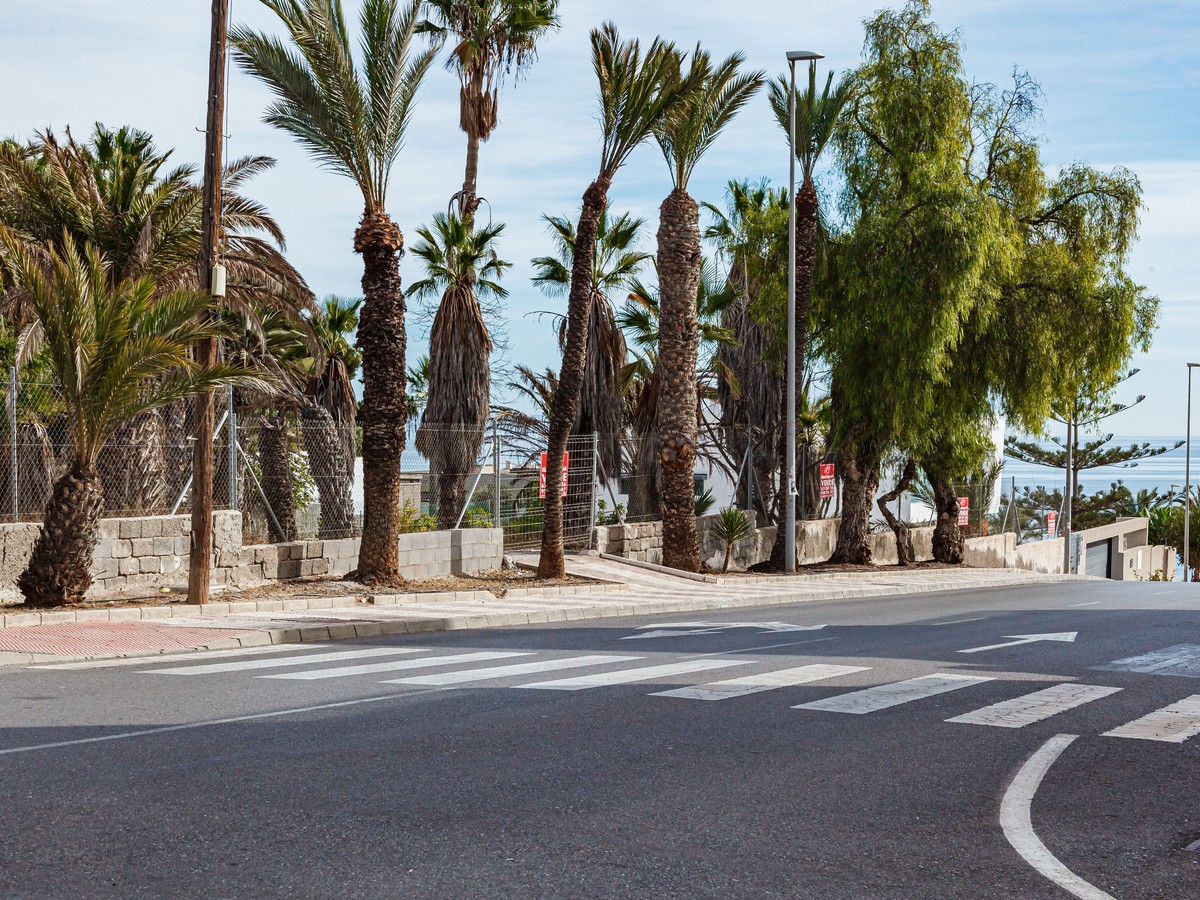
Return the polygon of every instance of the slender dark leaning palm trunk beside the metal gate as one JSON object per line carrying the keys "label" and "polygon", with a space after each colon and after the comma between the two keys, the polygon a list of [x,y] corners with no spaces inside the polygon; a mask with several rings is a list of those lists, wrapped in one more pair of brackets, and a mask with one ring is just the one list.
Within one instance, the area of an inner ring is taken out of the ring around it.
{"label": "slender dark leaning palm trunk beside the metal gate", "polygon": [[595,259],[600,216],[608,203],[606,178],[598,178],[583,193],[583,209],[575,229],[575,258],[571,264],[571,289],[566,300],[566,342],[558,389],[550,404],[550,440],[546,455],[546,503],[541,532],[541,556],[538,574],[544,578],[562,578],[566,574],[563,556],[563,498],[554,490],[563,480],[563,452],[566,438],[580,412],[583,367],[587,354],[588,324],[592,313],[592,266]]}

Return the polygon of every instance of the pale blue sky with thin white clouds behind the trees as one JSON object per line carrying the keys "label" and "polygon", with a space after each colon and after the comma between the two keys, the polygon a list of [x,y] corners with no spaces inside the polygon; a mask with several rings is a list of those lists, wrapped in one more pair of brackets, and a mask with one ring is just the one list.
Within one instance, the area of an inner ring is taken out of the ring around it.
{"label": "pale blue sky with thin white clouds behind the trees", "polygon": [[[356,14],[358,1],[344,0]],[[882,0],[563,0],[562,29],[500,97],[499,127],[481,152],[479,192],[506,230],[500,256],[515,263],[506,287],[509,358],[558,365],[551,324],[560,311],[529,283],[529,259],[551,252],[544,214],[574,218],[599,161],[595,77],[588,31],[612,19],[623,35],[655,35],[714,56],[743,50],[750,68],[781,73],[790,49],[812,49],[842,72],[859,60],[862,22]],[[96,121],[150,131],[174,162],[202,158],[211,4],[206,0],[0,0],[0,134],[28,138]],[[938,0],[934,18],[960,32],[968,77],[1004,83],[1013,67],[1042,85],[1043,157],[1051,170],[1076,161],[1124,166],[1145,190],[1140,241],[1129,271],[1162,298],[1162,319],[1141,372],[1120,398],[1146,401],[1110,421],[1122,434],[1183,434],[1187,361],[1200,361],[1200,2],[1195,0]],[[274,30],[259,0],[232,0],[232,19]],[[823,76],[822,76],[823,77]],[[445,210],[462,184],[457,79],[431,71],[389,192],[389,212],[412,245],[416,228]],[[227,157],[264,154],[278,163],[246,192],[266,204],[288,238],[288,256],[318,295],[360,294],[352,241],[361,196],[320,170],[287,134],[263,124],[264,88],[233,70]],[[760,95],[701,162],[691,193],[721,204],[731,179],[787,181],[786,136]],[[653,251],[658,206],[670,192],[661,154],[640,149],[610,193],[610,205],[647,220]],[[488,209],[485,206],[485,212]],[[401,266],[420,277],[414,256]],[[410,324],[409,359],[425,329]],[[1198,385],[1200,390],[1200,385]],[[1128,396],[1126,396],[1128,395]]]}

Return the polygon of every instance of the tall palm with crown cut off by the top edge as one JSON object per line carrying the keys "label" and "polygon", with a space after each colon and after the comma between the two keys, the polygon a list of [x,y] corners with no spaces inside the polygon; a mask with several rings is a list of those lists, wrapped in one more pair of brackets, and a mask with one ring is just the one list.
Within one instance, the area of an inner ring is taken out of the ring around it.
{"label": "tall palm with crown cut off by the top edge", "polygon": [[538,41],[558,28],[558,0],[425,0],[420,30],[451,40],[446,68],[458,74],[458,127],[467,170],[455,194],[458,218],[474,228],[479,208],[479,145],[496,130],[500,82],[533,65]]}

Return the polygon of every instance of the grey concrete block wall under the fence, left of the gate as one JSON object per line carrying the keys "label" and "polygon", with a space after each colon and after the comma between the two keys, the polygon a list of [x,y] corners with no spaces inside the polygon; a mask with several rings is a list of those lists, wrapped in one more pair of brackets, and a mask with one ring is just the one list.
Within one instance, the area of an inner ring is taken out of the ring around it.
{"label": "grey concrete block wall under the fence, left of the gate", "polygon": [[[25,569],[41,526],[0,524],[0,598],[17,599],[17,576]],[[92,558],[89,598],[145,593],[187,584],[191,516],[106,518]],[[252,587],[320,575],[343,576],[358,568],[359,541],[312,540],[242,546],[241,514],[221,511],[212,521],[212,583]],[[464,528],[400,536],[404,578],[469,575],[499,569],[504,532]]]}

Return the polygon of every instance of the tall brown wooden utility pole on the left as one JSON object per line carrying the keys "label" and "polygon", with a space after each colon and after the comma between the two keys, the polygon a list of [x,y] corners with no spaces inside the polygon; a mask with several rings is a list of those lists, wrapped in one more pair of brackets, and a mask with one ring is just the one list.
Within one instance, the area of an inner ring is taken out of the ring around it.
{"label": "tall brown wooden utility pole on the left", "polygon": [[[221,260],[221,169],[224,142],[226,43],[229,0],[212,0],[212,38],[209,50],[209,112],[204,133],[204,206],[198,260],[200,286],[214,294],[212,269]],[[218,288],[220,289],[220,288]],[[196,361],[216,362],[217,342],[209,337],[196,346]],[[196,445],[192,448],[192,557],[187,569],[187,601],[208,602],[212,572],[212,428],[216,412],[212,391],[194,401]]]}

